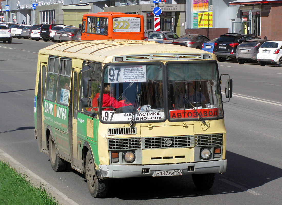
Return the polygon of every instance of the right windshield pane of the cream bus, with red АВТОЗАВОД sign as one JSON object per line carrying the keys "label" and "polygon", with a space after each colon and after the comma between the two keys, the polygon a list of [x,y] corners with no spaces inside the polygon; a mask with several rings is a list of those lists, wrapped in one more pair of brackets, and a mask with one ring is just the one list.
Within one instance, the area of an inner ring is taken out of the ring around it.
{"label": "right windshield pane of the cream bus, with red \u0410\u0412\u0422\u041e\u0417\u0410\u0412\u041e\u0414 sign", "polygon": [[216,63],[168,64],[167,75],[170,119],[223,115]]}

